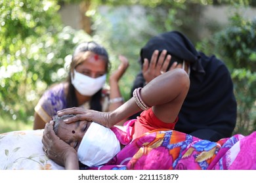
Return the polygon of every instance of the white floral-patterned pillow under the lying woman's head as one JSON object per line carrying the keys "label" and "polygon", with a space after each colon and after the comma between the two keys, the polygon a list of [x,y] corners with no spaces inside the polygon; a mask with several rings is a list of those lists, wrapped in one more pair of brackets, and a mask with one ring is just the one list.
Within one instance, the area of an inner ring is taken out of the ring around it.
{"label": "white floral-patterned pillow under the lying woman's head", "polygon": [[0,134],[1,170],[63,170],[43,152],[44,129]]}

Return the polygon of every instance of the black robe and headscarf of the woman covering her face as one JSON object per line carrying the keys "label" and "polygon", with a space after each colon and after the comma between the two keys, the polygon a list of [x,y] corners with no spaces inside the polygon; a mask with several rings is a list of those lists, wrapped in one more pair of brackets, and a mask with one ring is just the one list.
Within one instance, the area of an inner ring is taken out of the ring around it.
{"label": "black robe and headscarf of the woman covering her face", "polygon": [[[189,65],[190,89],[175,129],[209,141],[230,137],[236,125],[237,104],[230,73],[223,61],[198,52],[192,42],[178,31],[152,37],[140,50],[140,63],[143,64],[145,58],[150,61],[155,50],[159,53],[167,50],[167,55],[171,55],[171,62],[165,71],[169,71],[173,61],[181,63],[180,67],[183,61]],[[142,70],[137,75],[131,97],[135,88],[149,82],[144,79],[145,72]],[[158,75],[161,72],[158,71]]]}

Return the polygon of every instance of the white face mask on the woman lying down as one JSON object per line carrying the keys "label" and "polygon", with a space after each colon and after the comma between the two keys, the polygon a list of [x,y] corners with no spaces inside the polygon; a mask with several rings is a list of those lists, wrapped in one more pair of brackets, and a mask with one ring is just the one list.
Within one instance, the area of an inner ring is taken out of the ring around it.
{"label": "white face mask on the woman lying down", "polygon": [[81,163],[89,167],[103,165],[121,150],[115,133],[108,127],[91,123],[77,150]]}

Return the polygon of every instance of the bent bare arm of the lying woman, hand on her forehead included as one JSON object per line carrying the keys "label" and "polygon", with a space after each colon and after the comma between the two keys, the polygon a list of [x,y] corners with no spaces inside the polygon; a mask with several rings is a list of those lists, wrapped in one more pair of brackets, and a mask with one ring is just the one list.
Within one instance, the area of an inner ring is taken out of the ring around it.
{"label": "bent bare arm of the lying woman, hand on her forehead included", "polygon": [[[189,88],[189,78],[182,69],[174,69],[158,76],[148,83],[140,91],[140,98],[163,122],[171,123],[177,118],[181,105]],[[138,102],[138,101],[137,101]],[[96,110],[84,110],[83,108],[67,108],[58,112],[59,116],[64,114],[76,114],[67,119],[66,124],[77,120],[88,120],[98,122],[106,127],[112,127],[119,122],[140,112],[135,97],[132,97],[120,107],[110,112],[98,112]]]}

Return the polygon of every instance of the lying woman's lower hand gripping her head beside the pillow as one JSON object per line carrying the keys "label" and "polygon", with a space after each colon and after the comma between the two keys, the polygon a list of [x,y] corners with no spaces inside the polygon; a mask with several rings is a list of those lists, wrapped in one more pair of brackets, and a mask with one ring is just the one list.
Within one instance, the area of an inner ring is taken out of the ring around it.
{"label": "lying woman's lower hand gripping her head beside the pillow", "polygon": [[47,150],[46,155],[48,158],[53,159],[58,165],[64,166],[67,157],[77,152],[72,146],[62,141],[53,131],[53,121],[45,125],[43,132],[43,151]]}

